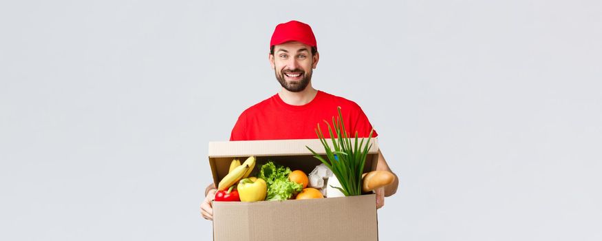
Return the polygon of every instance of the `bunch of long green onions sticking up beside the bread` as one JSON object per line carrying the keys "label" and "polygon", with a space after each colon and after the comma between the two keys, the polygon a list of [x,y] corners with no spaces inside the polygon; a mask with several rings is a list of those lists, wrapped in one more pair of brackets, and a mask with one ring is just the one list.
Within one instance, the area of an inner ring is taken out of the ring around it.
{"label": "bunch of long green onions sticking up beside the bread", "polygon": [[356,132],[354,138],[355,145],[352,145],[352,138],[349,137],[349,134],[347,134],[347,130],[345,129],[341,107],[338,107],[337,110],[338,118],[335,120],[334,116],[332,116],[332,126],[334,127],[336,138],[334,137],[333,128],[327,121],[324,121],[328,126],[328,132],[330,133],[334,150],[330,148],[326,138],[324,138],[320,123],[318,123],[318,127],[316,128],[316,134],[324,146],[327,160],[310,147],[305,147],[312,151],[314,157],[324,163],[324,165],[332,171],[334,176],[338,179],[338,182],[341,182],[342,188],[334,188],[341,190],[345,196],[358,196],[362,194],[362,173],[364,171],[368,149],[372,147],[372,144],[368,145],[368,143],[370,143],[374,129],[370,131],[370,135],[368,136],[365,145],[364,138],[361,138],[361,142],[358,144],[358,132]]}

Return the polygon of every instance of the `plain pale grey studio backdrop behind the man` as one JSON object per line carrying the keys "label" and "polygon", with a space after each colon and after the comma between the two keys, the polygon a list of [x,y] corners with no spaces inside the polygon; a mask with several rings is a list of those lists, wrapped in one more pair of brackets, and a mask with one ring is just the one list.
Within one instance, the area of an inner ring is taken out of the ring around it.
{"label": "plain pale grey studio backdrop behind the man", "polygon": [[400,177],[380,240],[602,240],[595,0],[2,1],[0,240],[211,240],[207,144],[292,19]]}

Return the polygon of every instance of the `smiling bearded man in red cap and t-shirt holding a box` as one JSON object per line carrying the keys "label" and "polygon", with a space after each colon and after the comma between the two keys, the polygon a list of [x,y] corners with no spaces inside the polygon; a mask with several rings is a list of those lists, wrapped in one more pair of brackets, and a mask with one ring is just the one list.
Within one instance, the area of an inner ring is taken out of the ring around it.
{"label": "smiling bearded man in red cap and t-shirt holding a box", "polygon": [[[359,105],[312,87],[312,70],[318,65],[320,55],[310,25],[299,21],[277,25],[270,41],[268,59],[282,89],[246,109],[234,125],[230,140],[317,138],[317,123],[332,121],[333,116],[338,116],[339,106],[347,132],[352,136],[357,132],[360,138],[368,137],[372,125]],[[374,132],[373,137],[376,136],[378,134]],[[380,151],[376,169],[391,171]],[[383,207],[385,196],[393,195],[397,187],[398,178],[395,178],[391,185],[376,189],[376,207]],[[211,200],[215,191],[213,183],[206,188],[200,207],[203,218],[207,220],[213,220]]]}

